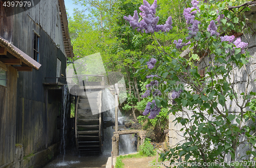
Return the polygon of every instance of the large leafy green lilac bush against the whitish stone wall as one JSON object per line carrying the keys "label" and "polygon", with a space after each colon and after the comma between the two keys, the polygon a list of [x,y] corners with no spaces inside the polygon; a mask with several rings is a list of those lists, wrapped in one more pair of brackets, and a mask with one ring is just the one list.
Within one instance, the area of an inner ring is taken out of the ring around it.
{"label": "large leafy green lilac bush against the whitish stone wall", "polygon": [[[189,164],[192,162],[201,165],[206,163],[204,167],[234,167],[236,161],[249,162],[256,156],[253,124],[256,93],[249,87],[255,69],[249,69],[249,53],[245,50],[247,44],[240,37],[235,41],[228,41],[230,36],[220,38],[247,29],[245,16],[241,11],[250,9],[245,7],[228,10],[228,6],[240,5],[239,3],[241,1],[204,3],[193,0],[191,8],[184,9],[187,23],[184,31],[187,37],[176,42],[179,43],[176,45],[177,49],[167,49],[164,44],[157,42],[155,35],[165,34],[151,33],[152,38],[155,38],[152,45],[159,54],[144,55],[144,58],[134,64],[142,80],[148,74],[159,76],[148,81],[147,85],[148,88],[157,86],[154,89],[159,89],[162,95],[154,95],[152,91],[144,95],[150,97],[146,98],[149,103],[153,99],[158,108],[169,108],[169,112],[176,117],[173,122],[182,126],[180,131],[184,131],[185,141],[161,156],[171,162],[182,157],[188,164],[179,167],[198,167]],[[179,48],[184,45],[190,48],[187,59],[179,56]],[[152,63],[152,58],[157,60],[156,64]],[[205,68],[205,75],[200,76],[200,66]],[[241,86],[240,79],[235,78],[237,69],[246,78]],[[167,84],[162,84],[163,81],[167,81]],[[172,103],[168,103],[169,101]],[[154,109],[154,103],[150,104],[150,108]],[[150,108],[146,107],[145,111]],[[148,111],[145,112],[147,113]],[[238,149],[241,148],[247,149],[245,156],[240,155]],[[216,165],[207,166],[207,163]],[[239,165],[246,166],[244,163]]]}

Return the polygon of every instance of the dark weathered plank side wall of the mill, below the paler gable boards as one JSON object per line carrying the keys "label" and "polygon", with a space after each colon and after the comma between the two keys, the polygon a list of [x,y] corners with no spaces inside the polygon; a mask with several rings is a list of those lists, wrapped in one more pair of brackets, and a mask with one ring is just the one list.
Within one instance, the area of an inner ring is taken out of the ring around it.
{"label": "dark weathered plank side wall of the mill, below the paler gable boards", "polygon": [[[59,130],[56,130],[59,100],[55,99],[49,104],[48,118],[46,118],[45,87],[42,83],[46,82],[45,77],[56,77],[57,58],[61,61],[61,74],[66,76],[66,57],[60,49],[57,49],[48,33],[41,29],[26,12],[13,16],[13,44],[31,57],[33,30],[40,35],[39,63],[41,67],[39,70],[33,69],[32,72],[19,72],[17,87],[16,143],[24,145],[25,156],[45,149],[46,134],[48,134],[48,147],[60,140]],[[51,80],[47,82],[56,82],[56,79]],[[53,95],[48,96],[49,99],[51,96]],[[61,98],[61,93],[57,93],[57,97]],[[47,122],[48,130],[46,130]]]}

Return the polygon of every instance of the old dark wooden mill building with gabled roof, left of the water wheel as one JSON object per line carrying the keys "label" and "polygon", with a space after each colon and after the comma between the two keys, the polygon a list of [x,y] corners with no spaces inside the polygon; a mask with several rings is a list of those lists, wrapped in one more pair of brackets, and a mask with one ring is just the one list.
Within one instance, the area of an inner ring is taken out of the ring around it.
{"label": "old dark wooden mill building with gabled roof, left of the water wheel", "polygon": [[64,0],[33,2],[0,2],[0,168],[43,166],[60,144],[68,19]]}

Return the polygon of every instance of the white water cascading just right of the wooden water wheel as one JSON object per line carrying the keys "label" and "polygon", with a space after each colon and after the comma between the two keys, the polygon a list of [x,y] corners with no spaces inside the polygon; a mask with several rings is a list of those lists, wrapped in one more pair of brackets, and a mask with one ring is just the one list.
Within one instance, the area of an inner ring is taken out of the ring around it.
{"label": "white water cascading just right of the wooden water wheel", "polygon": [[[105,89],[102,92],[102,111],[104,123],[115,123],[115,98],[109,89]],[[118,124],[124,125],[125,119],[118,109]],[[110,127],[103,129],[103,152],[105,154],[112,151],[112,136],[115,130]],[[133,135],[120,135],[119,151],[120,154],[128,154],[136,152],[135,137]]]}

